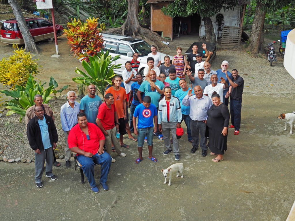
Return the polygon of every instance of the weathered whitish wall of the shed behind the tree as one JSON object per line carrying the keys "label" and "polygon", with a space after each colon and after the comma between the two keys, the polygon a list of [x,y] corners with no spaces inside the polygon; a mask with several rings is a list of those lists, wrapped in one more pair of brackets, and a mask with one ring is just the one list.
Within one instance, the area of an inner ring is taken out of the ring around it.
{"label": "weathered whitish wall of the shed behind the tree", "polygon": [[[239,26],[239,24],[240,24],[240,5],[237,5],[233,10],[229,10],[229,11],[224,11],[223,9],[221,9],[219,11],[219,13],[223,14],[223,17],[224,17],[223,18],[223,20],[224,20],[223,26],[236,26],[236,27]],[[217,14],[219,14],[219,13],[217,13]],[[213,24],[215,34],[218,29],[217,25],[215,24],[216,15],[211,17],[211,21]],[[217,33],[218,33],[217,37],[221,37],[222,31],[217,31]],[[204,22],[202,21],[202,17],[201,17],[199,37],[203,37],[205,35],[206,35],[205,34],[205,26],[204,26]]]}

